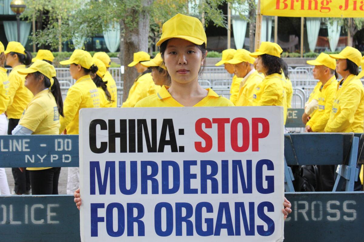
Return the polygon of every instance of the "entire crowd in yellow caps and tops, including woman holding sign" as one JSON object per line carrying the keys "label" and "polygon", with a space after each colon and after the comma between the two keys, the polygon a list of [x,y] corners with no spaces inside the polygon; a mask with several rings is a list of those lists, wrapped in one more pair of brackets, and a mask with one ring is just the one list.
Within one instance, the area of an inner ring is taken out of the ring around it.
{"label": "entire crowd in yellow caps and tops, including woman holding sign", "polygon": [[[183,26],[178,23],[184,23]],[[227,49],[222,60],[234,74],[230,100],[198,83],[206,65],[207,38],[201,22],[177,14],[163,24],[157,43],[160,53],[153,59],[146,52],[134,53],[128,67],[135,67],[135,79],[122,107],[282,106],[284,123],[292,100],[288,66],[281,47],[262,42],[256,52]],[[19,42],[0,45],[0,135],[79,134],[81,108],[116,107],[117,91],[108,71],[110,58],[104,52],[92,57],[75,50],[69,60],[73,79],[63,101],[53,55],[39,50],[32,59]],[[4,64],[12,67],[7,76]],[[28,68],[27,65],[31,64]],[[364,89],[359,73],[364,58],[359,50],[346,47],[340,54],[321,53],[313,65],[317,85],[305,104],[302,121],[307,132],[359,132],[364,130]],[[337,75],[343,78],[337,80]],[[321,168],[331,179],[333,168]],[[15,194],[58,194],[60,168],[13,168]],[[331,180],[330,180],[331,182]],[[330,182],[325,183],[330,189]],[[67,193],[74,194],[79,207],[79,170],[68,168]],[[75,192],[76,191],[76,192]],[[0,194],[10,194],[4,169],[0,169]],[[282,212],[290,212],[288,201]]]}

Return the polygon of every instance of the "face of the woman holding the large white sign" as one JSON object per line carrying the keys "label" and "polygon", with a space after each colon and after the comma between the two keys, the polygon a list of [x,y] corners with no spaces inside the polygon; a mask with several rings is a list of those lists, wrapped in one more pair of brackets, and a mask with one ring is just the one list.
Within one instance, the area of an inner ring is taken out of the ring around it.
{"label": "face of the woman holding the large white sign", "polygon": [[192,42],[172,38],[167,43],[164,61],[172,82],[197,82],[198,72],[205,56]]}

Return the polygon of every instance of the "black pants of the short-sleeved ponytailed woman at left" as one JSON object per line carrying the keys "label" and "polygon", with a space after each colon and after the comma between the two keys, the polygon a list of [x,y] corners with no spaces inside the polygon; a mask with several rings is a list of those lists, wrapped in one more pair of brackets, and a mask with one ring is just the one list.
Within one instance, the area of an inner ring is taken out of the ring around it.
{"label": "black pants of the short-sleeved ponytailed woman at left", "polygon": [[60,167],[29,171],[32,195],[57,195]]}

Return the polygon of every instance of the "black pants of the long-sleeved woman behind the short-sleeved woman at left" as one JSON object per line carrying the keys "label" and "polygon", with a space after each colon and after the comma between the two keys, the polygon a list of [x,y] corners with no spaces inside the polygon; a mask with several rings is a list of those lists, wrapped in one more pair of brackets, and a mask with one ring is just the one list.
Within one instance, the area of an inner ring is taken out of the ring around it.
{"label": "black pants of the long-sleeved woman behind the short-sleeved woman at left", "polygon": [[[8,135],[11,135],[11,131],[18,125],[19,119],[9,119],[8,123]],[[25,194],[30,190],[29,171],[25,170],[21,172],[19,168],[11,168],[14,177],[14,191],[16,194]]]}

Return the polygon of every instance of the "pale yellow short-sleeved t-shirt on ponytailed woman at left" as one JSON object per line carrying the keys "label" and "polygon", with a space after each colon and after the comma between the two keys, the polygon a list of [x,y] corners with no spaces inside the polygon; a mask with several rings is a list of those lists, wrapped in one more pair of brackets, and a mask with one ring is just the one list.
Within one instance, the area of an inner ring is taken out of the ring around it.
{"label": "pale yellow short-sleeved t-shirt on ponytailed woman at left", "polygon": [[[32,135],[57,135],[59,130],[59,112],[56,100],[47,88],[29,102],[21,115],[19,125],[33,131]],[[37,171],[51,167],[28,167],[27,170]]]}

